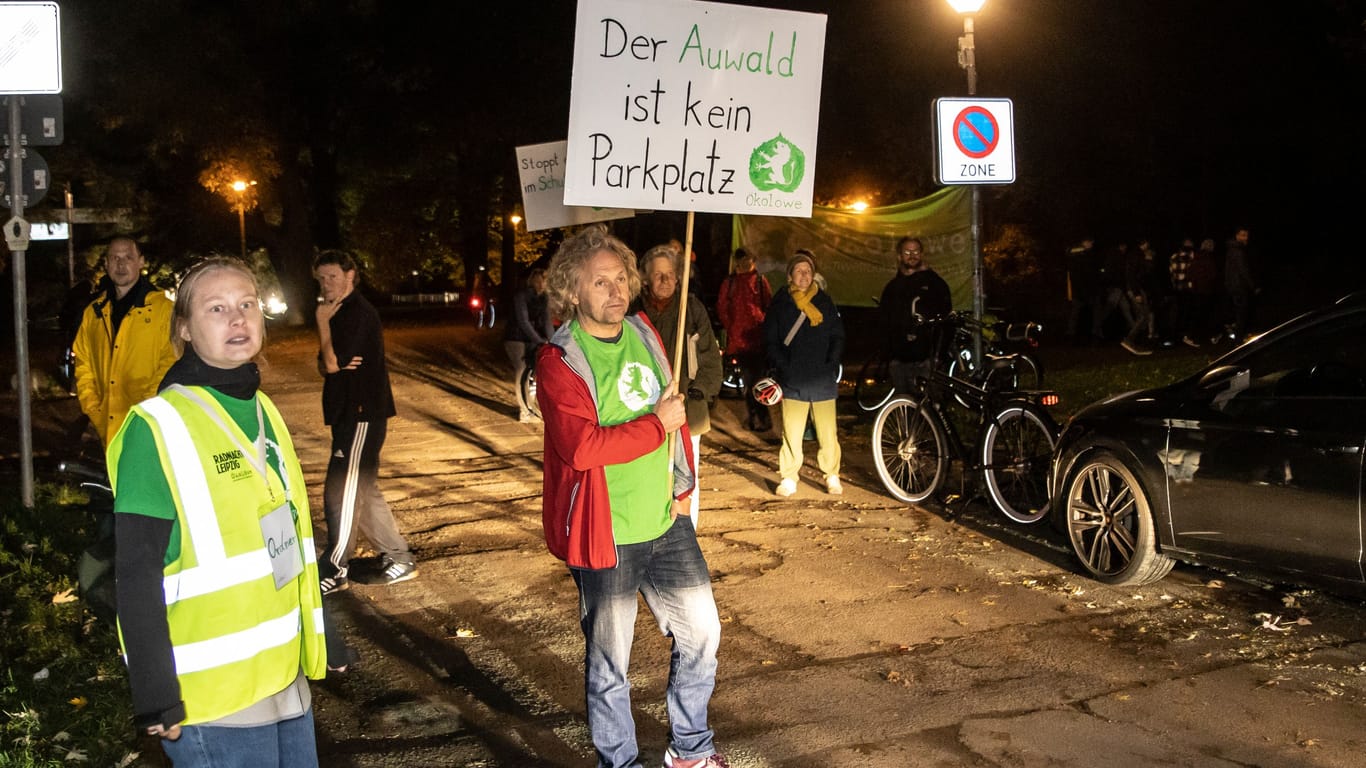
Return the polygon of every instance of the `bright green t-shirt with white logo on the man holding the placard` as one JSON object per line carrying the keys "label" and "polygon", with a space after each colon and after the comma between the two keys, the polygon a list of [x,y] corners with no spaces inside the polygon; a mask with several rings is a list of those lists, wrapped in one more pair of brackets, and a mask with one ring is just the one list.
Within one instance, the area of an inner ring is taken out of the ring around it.
{"label": "bright green t-shirt with white logo on the man holding the placard", "polygon": [[[664,376],[650,350],[635,331],[604,342],[574,324],[597,385],[598,424],[613,426],[652,413],[664,389]],[[653,541],[669,529],[673,473],[668,443],[624,465],[607,465],[607,491],[612,500],[612,536],[617,544]]]}

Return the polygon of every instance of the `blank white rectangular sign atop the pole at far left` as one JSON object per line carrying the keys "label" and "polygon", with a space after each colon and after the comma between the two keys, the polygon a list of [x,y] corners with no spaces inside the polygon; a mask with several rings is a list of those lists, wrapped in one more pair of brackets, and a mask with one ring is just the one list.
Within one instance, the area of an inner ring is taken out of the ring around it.
{"label": "blank white rectangular sign atop the pole at far left", "polygon": [[56,3],[0,3],[0,93],[61,93]]}

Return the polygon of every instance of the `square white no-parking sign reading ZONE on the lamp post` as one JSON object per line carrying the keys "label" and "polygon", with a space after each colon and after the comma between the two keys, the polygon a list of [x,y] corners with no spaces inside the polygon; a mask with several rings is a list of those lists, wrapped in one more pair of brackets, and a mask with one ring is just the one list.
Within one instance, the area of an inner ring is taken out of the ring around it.
{"label": "square white no-parking sign reading ZONE on the lamp post", "polygon": [[1015,115],[1009,98],[936,100],[934,143],[941,184],[1015,180]]}

